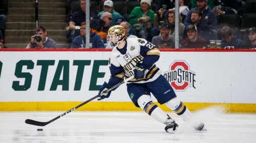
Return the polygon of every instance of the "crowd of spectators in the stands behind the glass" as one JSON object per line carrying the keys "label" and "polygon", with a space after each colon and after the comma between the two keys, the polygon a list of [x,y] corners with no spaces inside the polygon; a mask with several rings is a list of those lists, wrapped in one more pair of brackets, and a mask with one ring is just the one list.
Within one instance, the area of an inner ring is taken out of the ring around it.
{"label": "crowd of spectators in the stands behind the glass", "polygon": [[[75,1],[80,1],[76,3],[80,5],[76,11],[72,9]],[[221,40],[221,48],[255,48],[256,24],[243,26],[248,1],[179,0],[179,48],[208,48],[211,40]],[[0,47],[4,47],[8,0],[0,2]],[[70,17],[66,30],[70,48],[108,48],[107,31],[117,24],[125,28],[129,38],[146,38],[159,48],[175,48],[175,0],[90,1],[90,47],[85,47],[86,1],[67,0],[67,3]],[[129,4],[133,4],[131,10]],[[256,17],[256,12],[251,15]],[[229,16],[237,16],[239,21],[220,22],[221,17]],[[54,41],[46,36],[44,27],[36,29],[36,34],[41,35],[42,41],[35,41],[33,35],[27,48],[49,47],[43,45],[44,42]]]}

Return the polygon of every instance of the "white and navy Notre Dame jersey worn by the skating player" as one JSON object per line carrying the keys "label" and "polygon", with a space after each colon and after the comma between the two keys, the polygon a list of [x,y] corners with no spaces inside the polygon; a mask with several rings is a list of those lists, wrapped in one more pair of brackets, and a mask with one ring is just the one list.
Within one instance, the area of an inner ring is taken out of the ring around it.
{"label": "white and navy Notre Dame jersey worn by the skating player", "polygon": [[132,79],[130,82],[146,83],[157,79],[161,74],[155,62],[160,57],[160,51],[155,45],[143,38],[127,38],[123,49],[117,47],[112,50],[109,58],[109,69],[112,77],[124,78],[133,75],[136,63],[141,63],[148,69],[145,77]]}

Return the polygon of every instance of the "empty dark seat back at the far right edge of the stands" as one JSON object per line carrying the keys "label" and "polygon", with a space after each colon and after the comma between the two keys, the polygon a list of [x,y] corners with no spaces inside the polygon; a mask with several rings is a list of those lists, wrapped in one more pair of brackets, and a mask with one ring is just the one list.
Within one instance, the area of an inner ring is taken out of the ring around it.
{"label": "empty dark seat back at the far right edge of the stands", "polygon": [[243,14],[242,18],[242,29],[248,29],[255,27],[256,23],[256,14]]}

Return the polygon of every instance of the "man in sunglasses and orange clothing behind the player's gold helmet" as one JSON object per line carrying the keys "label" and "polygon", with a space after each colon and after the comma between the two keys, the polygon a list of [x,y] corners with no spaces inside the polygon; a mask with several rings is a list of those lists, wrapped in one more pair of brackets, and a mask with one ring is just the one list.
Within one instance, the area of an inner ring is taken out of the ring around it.
{"label": "man in sunglasses and orange clothing behind the player's gold helmet", "polygon": [[109,29],[109,24],[112,22],[113,17],[110,12],[104,12],[100,19],[91,20],[92,32],[100,35],[103,41],[106,43],[107,31]]}

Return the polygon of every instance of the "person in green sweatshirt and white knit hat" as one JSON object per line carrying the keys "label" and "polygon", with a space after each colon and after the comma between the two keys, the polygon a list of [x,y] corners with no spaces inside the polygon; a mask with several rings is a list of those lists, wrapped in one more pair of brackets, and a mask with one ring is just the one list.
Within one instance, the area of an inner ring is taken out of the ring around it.
{"label": "person in green sweatshirt and white knit hat", "polygon": [[136,35],[139,38],[152,39],[151,30],[154,22],[154,11],[150,9],[150,0],[141,0],[140,6],[133,8],[130,14],[129,23],[136,29]]}

